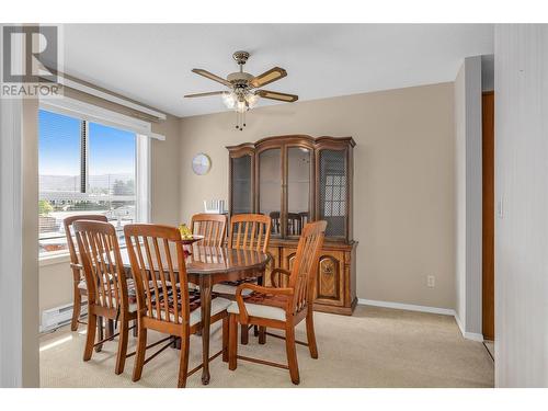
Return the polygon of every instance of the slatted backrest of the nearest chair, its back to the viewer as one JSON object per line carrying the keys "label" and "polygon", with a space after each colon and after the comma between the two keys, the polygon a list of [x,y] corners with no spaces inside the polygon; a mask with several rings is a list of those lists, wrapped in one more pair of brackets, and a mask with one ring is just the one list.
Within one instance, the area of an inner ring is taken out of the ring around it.
{"label": "slatted backrest of the nearest chair, its back to the viewer", "polygon": [[[179,229],[153,224],[130,224],[124,227],[124,233],[139,313],[158,321],[187,326],[189,282]],[[178,284],[181,299],[175,288]]]}

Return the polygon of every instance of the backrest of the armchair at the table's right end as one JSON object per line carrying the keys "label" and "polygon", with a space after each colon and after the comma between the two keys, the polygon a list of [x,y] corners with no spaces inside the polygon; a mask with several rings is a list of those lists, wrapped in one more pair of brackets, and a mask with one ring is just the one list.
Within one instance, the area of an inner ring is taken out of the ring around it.
{"label": "backrest of the armchair at the table's right end", "polygon": [[305,307],[311,307],[318,260],[323,247],[327,226],[327,221],[309,222],[300,235],[295,263],[289,276],[289,288],[295,290],[294,312],[298,312]]}

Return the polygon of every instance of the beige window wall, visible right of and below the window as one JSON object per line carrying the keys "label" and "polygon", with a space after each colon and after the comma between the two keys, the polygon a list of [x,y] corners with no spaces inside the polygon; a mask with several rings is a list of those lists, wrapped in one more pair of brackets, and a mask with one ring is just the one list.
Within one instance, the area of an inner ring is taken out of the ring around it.
{"label": "beige window wall, visible right of and below the window", "polygon": [[[151,146],[151,220],[175,225],[179,220],[179,118],[168,116],[152,124],[152,132],[165,136]],[[39,267],[39,310],[72,302],[72,273],[68,261]]]}

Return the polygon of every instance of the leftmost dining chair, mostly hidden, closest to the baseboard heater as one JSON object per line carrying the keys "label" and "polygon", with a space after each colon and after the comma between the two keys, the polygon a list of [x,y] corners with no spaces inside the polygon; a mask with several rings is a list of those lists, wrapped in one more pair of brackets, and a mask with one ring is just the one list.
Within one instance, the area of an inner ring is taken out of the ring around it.
{"label": "leftmost dining chair, mostly hidden, closest to the baseboard heater", "polygon": [[103,222],[107,221],[105,216],[96,214],[70,216],[62,220],[62,225],[65,227],[65,236],[67,237],[67,247],[70,254],[70,267],[72,269],[73,304],[72,304],[72,320],[70,321],[70,330],[72,331],[77,331],[78,324],[82,323],[80,321],[82,296],[85,297],[88,295],[82,264],[80,263],[80,260],[78,260],[78,253],[76,252],[76,244],[72,239],[72,231],[73,231],[72,224],[76,220],[93,220]]}

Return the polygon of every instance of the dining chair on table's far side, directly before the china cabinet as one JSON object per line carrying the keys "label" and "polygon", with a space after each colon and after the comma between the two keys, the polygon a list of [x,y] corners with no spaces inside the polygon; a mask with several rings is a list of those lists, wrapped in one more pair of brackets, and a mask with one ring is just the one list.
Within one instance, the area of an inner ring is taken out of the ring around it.
{"label": "dining chair on table's far side, directly before the china cabinet", "polygon": [[[230,218],[228,235],[228,248],[239,250],[256,250],[269,252],[272,219],[262,214],[237,214]],[[236,289],[242,283],[256,283],[256,277],[250,277],[236,282],[222,282],[213,286],[213,292],[225,298],[235,299]],[[250,294],[251,292],[246,290]],[[241,343],[249,341],[248,327],[241,327]],[[261,343],[263,338],[261,336]]]}

